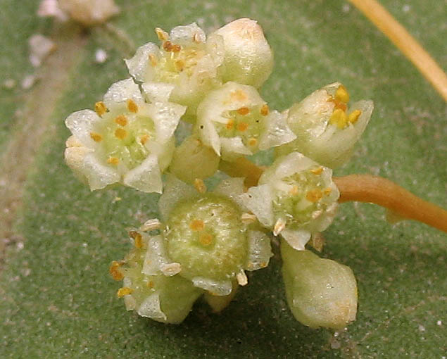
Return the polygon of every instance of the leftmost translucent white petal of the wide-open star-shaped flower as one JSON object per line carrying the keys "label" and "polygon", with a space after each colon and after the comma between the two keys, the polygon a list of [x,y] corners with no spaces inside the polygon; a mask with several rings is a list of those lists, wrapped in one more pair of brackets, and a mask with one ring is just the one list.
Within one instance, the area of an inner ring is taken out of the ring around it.
{"label": "leftmost translucent white petal of the wide-open star-shaped flower", "polygon": [[94,148],[95,142],[90,137],[90,133],[94,132],[96,124],[101,122],[102,119],[96,112],[92,110],[76,111],[65,119],[65,126],[68,130],[80,141],[84,146]]}

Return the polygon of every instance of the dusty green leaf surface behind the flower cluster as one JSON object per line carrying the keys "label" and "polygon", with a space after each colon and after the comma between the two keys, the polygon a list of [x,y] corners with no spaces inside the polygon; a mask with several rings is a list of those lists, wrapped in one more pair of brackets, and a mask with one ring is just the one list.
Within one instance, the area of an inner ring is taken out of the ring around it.
{"label": "dusty green leaf surface behind the flower cluster", "polygon": [[[69,135],[63,120],[92,108],[112,82],[126,77],[122,58],[155,41],[154,27],[196,21],[210,31],[234,18],[258,20],[275,51],[275,69],[262,90],[272,107],[288,108],[335,80],[354,100],[374,100],[355,156],[336,175],[381,175],[444,208],[447,111],[413,65],[341,0],[117,2],[118,17],[81,32],[38,19],[37,1],[22,0],[19,7],[0,1],[2,80],[20,83],[34,71],[26,42],[32,34],[60,45],[39,70],[36,87],[0,90],[0,149],[32,159],[3,156],[0,163],[1,179],[6,176],[0,217],[13,210],[15,223],[0,221],[8,244],[1,255],[0,357],[445,358],[446,234],[417,222],[390,225],[382,208],[365,203],[342,205],[325,232],[323,256],[349,265],[358,279],[358,318],[346,332],[294,320],[277,245],[270,266],[253,272],[220,315],[197,303],[175,326],[125,311],[108,265],[128,251],[126,229],[156,217],[158,195],[90,192],[77,182],[63,163]],[[446,68],[445,2],[382,3]],[[94,61],[99,47],[108,53],[106,63]],[[26,130],[32,126],[39,132]],[[17,170],[26,180],[8,177]]]}

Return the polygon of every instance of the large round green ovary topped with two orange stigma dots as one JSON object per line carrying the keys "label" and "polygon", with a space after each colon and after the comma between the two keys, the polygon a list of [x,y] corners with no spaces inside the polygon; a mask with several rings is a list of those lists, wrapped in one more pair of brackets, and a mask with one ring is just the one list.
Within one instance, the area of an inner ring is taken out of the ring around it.
{"label": "large round green ovary topped with two orange stigma dots", "polygon": [[234,277],[246,262],[246,231],[237,206],[225,197],[206,194],[184,201],[168,220],[168,256],[182,265],[187,279]]}

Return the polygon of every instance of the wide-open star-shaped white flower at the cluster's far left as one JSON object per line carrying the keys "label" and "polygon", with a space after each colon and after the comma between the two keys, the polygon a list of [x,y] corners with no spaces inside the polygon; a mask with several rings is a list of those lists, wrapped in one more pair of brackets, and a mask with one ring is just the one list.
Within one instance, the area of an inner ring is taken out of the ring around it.
{"label": "wide-open star-shaped white flower at the cluster's far left", "polygon": [[162,191],[161,172],[174,151],[173,133],[185,108],[145,103],[132,79],[113,84],[95,111],[72,113],[65,125],[65,161],[90,189],[121,182],[145,192]]}

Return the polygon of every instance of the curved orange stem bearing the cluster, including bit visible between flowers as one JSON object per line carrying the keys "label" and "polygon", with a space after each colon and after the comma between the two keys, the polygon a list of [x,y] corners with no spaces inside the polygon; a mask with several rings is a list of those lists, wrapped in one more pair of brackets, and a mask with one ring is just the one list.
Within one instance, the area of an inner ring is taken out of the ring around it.
{"label": "curved orange stem bearing the cluster, including bit visible between flowers", "polygon": [[[263,168],[246,158],[233,163],[222,161],[220,170],[231,177],[245,177],[247,187],[256,186]],[[372,175],[348,175],[333,177],[339,187],[339,202],[358,201],[375,203],[388,208],[394,214],[409,220],[418,220],[447,232],[447,210],[424,201],[398,184],[383,177]]]}

